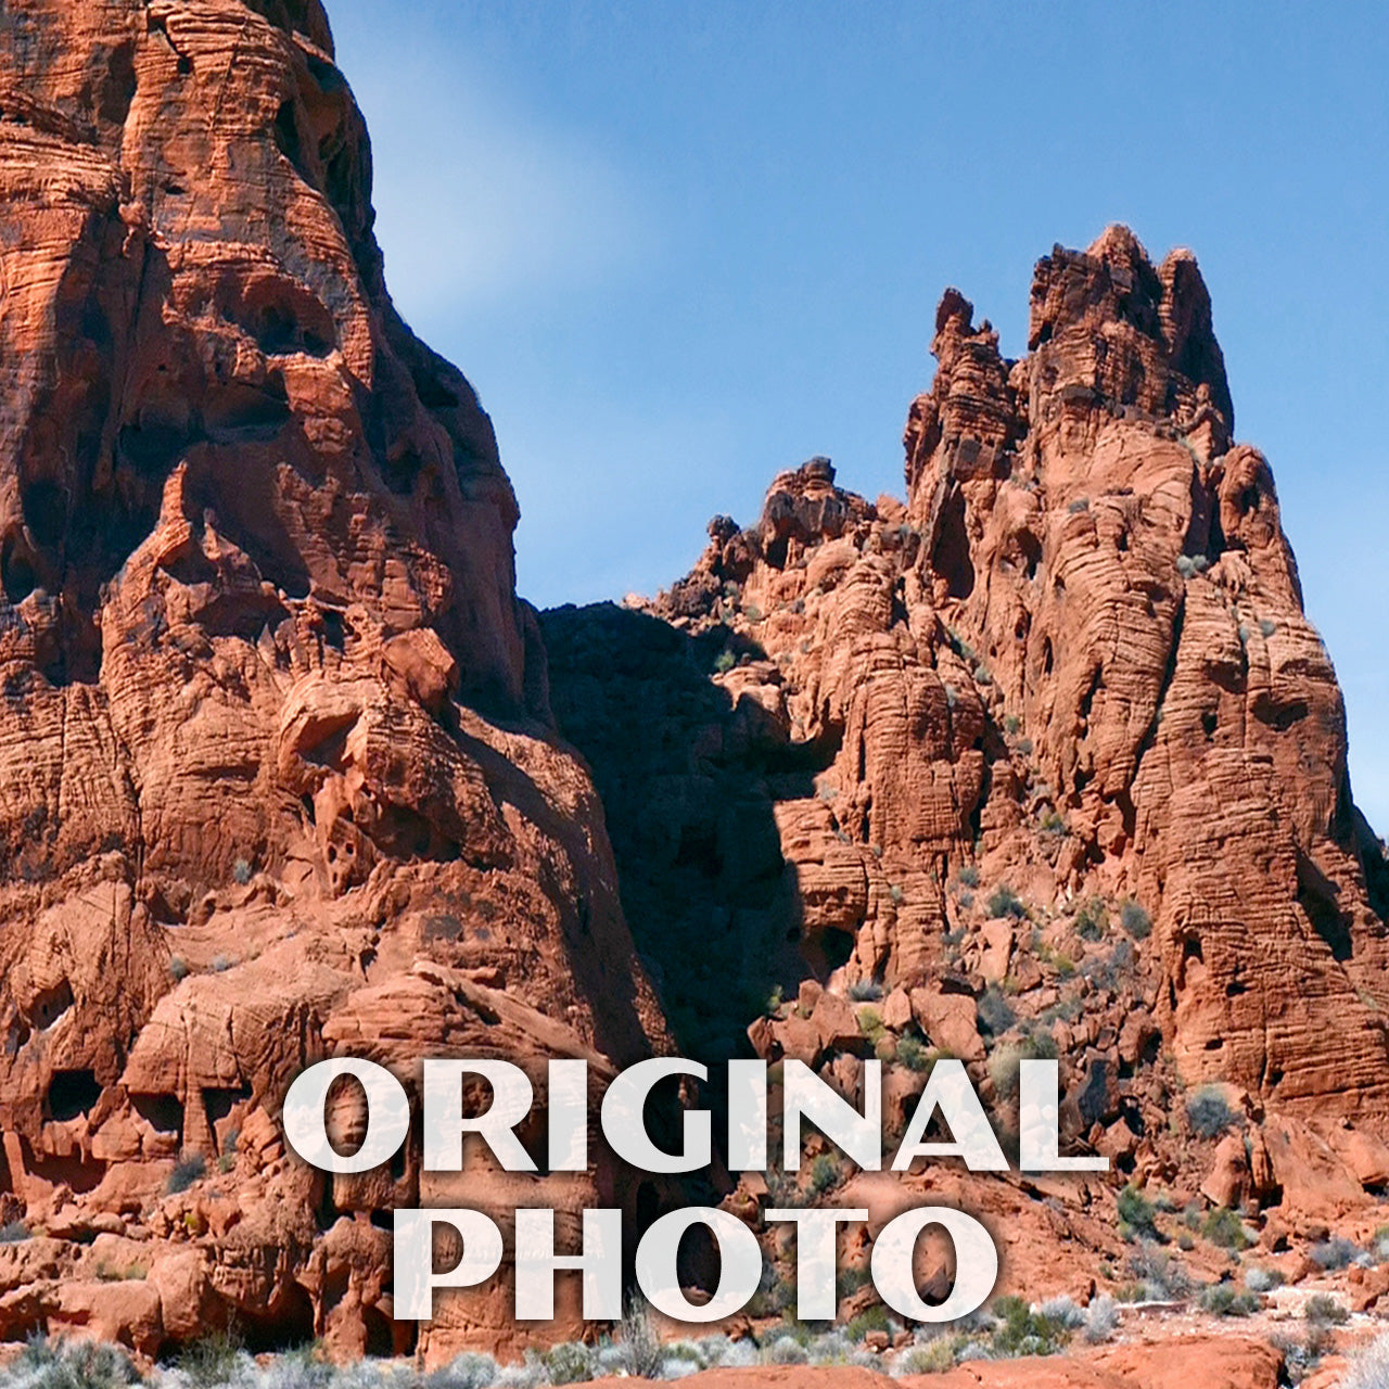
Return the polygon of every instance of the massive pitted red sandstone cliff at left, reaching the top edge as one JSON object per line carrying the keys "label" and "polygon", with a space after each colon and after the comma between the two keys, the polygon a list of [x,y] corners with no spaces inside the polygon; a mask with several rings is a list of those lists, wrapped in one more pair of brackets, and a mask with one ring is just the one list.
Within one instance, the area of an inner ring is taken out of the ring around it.
{"label": "massive pitted red sandstone cliff at left, reaching the top edge", "polygon": [[[418,1203],[418,1154],[324,1190],[275,1138],[292,1075],[597,1083],[661,1026],[511,486],[392,308],[317,0],[18,0],[0,111],[0,1214],[53,1236],[0,1268],[0,1340],[389,1349],[368,1217]],[[165,1197],[185,1149],[213,1186]],[[81,1292],[97,1233],[154,1236],[139,1315]],[[457,1300],[435,1353],[506,1324]]]}

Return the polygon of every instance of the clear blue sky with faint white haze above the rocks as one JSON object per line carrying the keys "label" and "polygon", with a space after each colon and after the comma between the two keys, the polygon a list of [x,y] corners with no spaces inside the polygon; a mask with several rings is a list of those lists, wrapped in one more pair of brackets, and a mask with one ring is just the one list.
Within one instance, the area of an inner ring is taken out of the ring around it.
{"label": "clear blue sky with faint white haze above the rocks", "polygon": [[328,0],[396,300],[492,413],[542,606],[654,592],[779,468],[901,494],[946,285],[1190,246],[1389,831],[1389,11]]}

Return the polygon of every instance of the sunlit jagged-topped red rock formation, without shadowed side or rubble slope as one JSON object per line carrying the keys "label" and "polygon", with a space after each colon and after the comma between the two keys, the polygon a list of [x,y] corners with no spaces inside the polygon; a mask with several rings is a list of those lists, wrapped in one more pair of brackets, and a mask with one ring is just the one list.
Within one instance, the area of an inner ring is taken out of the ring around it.
{"label": "sunlit jagged-topped red rock formation, without shadowed side or rubble slope", "polygon": [[824,753],[817,795],[771,796],[800,924],[851,936],[846,981],[910,992],[960,926],[990,978],[1026,957],[947,892],[961,865],[1011,875],[1042,926],[1132,896],[1185,1081],[1374,1113],[1382,861],[1193,257],[1154,268],[1111,228],[1039,263],[1028,357],[956,290],[933,347],[906,507],[813,460],[654,606],[726,636],[740,664],[715,679],[765,738]]}

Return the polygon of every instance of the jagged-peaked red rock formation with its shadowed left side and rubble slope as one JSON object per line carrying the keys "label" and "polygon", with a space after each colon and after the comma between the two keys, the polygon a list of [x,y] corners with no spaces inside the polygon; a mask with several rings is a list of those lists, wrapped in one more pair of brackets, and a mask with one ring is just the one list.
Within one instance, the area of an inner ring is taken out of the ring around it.
{"label": "jagged-peaked red rock formation with its shadowed left side and rubble slope", "polygon": [[[815,458],[644,613],[542,618],[672,1025],[713,1056],[750,1024],[849,1095],[896,1063],[899,1124],[933,1054],[1004,1113],[1058,1054],[1064,1139],[1114,1181],[1242,1204],[1270,1250],[1364,1238],[1385,864],[1196,263],[1111,228],[1039,263],[1025,358],[956,290],[933,347],[904,504]],[[1028,1296],[1129,1257],[1100,1182],[926,1193]]]}

